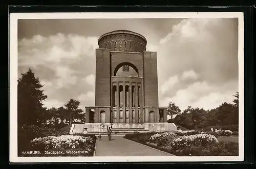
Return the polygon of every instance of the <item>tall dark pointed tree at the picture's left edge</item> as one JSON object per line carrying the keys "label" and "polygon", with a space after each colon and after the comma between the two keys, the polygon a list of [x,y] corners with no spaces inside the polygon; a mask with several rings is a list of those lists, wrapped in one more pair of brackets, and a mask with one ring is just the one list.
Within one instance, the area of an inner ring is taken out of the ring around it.
{"label": "tall dark pointed tree at the picture's left edge", "polygon": [[40,84],[39,78],[35,77],[32,70],[22,73],[18,79],[18,126],[23,124],[37,124],[38,117],[43,109],[42,101],[47,99],[44,94],[44,87]]}

